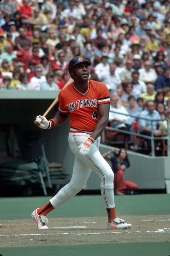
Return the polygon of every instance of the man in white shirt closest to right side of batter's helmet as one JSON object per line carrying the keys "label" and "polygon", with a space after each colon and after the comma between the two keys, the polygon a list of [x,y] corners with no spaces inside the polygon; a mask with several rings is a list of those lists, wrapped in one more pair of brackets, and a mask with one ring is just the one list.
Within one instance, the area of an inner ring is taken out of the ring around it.
{"label": "man in white shirt closest to right side of batter's helmet", "polygon": [[103,82],[110,73],[110,66],[108,63],[108,55],[103,54],[101,57],[101,62],[95,66],[94,72],[99,78],[100,82]]}

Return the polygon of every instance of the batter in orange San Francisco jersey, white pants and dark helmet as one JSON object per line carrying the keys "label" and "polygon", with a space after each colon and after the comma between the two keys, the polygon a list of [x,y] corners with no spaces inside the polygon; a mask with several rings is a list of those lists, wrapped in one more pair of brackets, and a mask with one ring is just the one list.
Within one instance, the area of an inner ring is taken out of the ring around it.
{"label": "batter in orange San Francisco jersey, white pants and dark helmet", "polygon": [[114,174],[99,152],[100,134],[108,123],[110,98],[105,84],[88,79],[90,64],[90,61],[80,56],[70,60],[69,73],[74,82],[60,91],[58,112],[51,120],[39,115],[35,121],[41,122],[39,127],[42,129],[52,129],[61,125],[70,115],[69,145],[75,154],[69,184],[61,188],[46,205],[32,213],[38,230],[48,229],[46,215],[80,192],[91,170],[100,178],[101,195],[108,214],[107,229],[127,229],[132,226],[115,213]]}

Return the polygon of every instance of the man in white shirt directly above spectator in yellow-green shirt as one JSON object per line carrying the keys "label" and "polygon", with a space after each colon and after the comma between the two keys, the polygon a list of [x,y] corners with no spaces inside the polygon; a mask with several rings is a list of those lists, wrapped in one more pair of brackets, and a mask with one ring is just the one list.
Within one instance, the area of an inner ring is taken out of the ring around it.
{"label": "man in white shirt directly above spectator in yellow-green shirt", "polygon": [[157,74],[154,68],[151,68],[150,60],[144,62],[144,68],[139,69],[139,79],[145,84],[154,84],[157,79]]}

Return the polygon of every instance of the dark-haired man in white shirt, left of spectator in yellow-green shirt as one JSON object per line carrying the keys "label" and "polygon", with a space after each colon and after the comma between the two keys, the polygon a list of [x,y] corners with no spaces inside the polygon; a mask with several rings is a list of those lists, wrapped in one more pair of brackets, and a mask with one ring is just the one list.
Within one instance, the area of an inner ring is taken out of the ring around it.
{"label": "dark-haired man in white shirt, left of spectator in yellow-green shirt", "polygon": [[137,100],[138,97],[142,93],[146,93],[146,84],[143,81],[139,80],[139,72],[133,71],[132,72],[132,95]]}

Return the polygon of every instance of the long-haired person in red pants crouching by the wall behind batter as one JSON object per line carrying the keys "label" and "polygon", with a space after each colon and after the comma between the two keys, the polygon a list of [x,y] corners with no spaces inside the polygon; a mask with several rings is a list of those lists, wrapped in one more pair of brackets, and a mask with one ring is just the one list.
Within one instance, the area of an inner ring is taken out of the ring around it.
{"label": "long-haired person in red pants crouching by the wall behind batter", "polygon": [[[111,153],[114,155],[109,156]],[[124,171],[130,166],[126,150],[122,148],[116,153],[116,149],[113,148],[104,153],[103,157],[112,162],[112,170],[114,172],[114,194],[122,196],[136,191],[138,185],[132,181],[124,179]]]}

